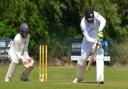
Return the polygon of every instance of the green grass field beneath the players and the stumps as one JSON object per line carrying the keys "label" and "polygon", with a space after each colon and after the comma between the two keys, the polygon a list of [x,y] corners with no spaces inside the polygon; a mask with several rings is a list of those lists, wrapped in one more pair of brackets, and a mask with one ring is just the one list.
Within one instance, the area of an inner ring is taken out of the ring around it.
{"label": "green grass field beneath the players and the stumps", "polygon": [[95,83],[96,71],[92,67],[86,72],[85,79],[79,84],[73,84],[76,68],[70,67],[48,67],[48,81],[39,82],[38,66],[34,68],[30,75],[31,81],[22,82],[20,73],[23,69],[18,66],[11,82],[5,83],[4,76],[7,66],[0,66],[0,89],[128,89],[128,67],[108,67],[105,66],[105,84]]}

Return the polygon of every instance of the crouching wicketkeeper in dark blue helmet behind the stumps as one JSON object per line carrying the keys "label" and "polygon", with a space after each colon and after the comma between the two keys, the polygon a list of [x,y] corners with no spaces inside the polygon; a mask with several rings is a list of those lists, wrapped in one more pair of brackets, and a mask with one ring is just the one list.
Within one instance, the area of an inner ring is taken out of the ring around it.
{"label": "crouching wicketkeeper in dark blue helmet behind the stumps", "polygon": [[34,60],[28,54],[28,44],[30,40],[29,27],[27,23],[20,25],[20,33],[16,34],[8,51],[10,65],[5,76],[5,82],[10,82],[16,65],[21,60],[24,65],[24,71],[21,74],[21,80],[28,81],[28,76],[33,69]]}

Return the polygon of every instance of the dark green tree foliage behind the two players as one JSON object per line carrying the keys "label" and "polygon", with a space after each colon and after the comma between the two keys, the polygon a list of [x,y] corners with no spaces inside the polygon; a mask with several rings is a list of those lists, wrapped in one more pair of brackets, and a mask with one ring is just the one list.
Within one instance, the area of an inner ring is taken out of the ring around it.
{"label": "dark green tree foliage behind the two players", "polygon": [[58,40],[81,38],[80,21],[84,9],[92,7],[107,20],[105,36],[120,40],[128,37],[127,5],[128,0],[1,0],[0,35],[13,38],[20,24],[27,22],[31,54],[38,53],[34,50],[42,43],[64,46],[65,43],[62,45]]}

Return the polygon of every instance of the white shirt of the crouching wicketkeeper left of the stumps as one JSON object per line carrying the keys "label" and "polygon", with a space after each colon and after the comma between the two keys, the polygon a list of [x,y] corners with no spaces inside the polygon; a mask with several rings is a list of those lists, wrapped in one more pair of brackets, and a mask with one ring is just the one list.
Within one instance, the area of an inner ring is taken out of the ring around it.
{"label": "white shirt of the crouching wicketkeeper left of the stumps", "polygon": [[20,33],[18,33],[15,36],[8,52],[10,60],[12,62],[19,63],[19,60],[22,59],[23,56],[29,57],[28,55],[29,40],[30,40],[29,34],[26,38],[23,38]]}

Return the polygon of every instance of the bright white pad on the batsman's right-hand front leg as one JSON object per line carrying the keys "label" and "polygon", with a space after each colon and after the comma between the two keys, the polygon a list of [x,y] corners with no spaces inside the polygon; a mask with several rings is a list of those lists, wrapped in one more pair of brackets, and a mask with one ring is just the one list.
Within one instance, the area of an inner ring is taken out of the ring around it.
{"label": "bright white pad on the batsman's right-hand front leg", "polygon": [[104,81],[104,51],[102,48],[97,49],[96,80],[97,80],[97,82]]}

